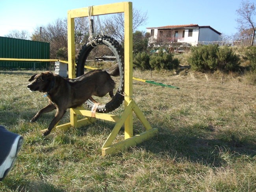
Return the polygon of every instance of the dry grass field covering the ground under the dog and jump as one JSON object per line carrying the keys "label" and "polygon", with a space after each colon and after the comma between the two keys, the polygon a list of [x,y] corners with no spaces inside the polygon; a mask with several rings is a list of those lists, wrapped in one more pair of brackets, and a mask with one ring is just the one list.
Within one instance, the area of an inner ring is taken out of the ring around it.
{"label": "dry grass field covering the ground under the dog and jump", "polygon": [[[134,100],[159,131],[138,146],[101,157],[112,122],[98,120],[47,137],[40,130],[55,112],[30,123],[48,102],[26,89],[32,74],[0,71],[0,124],[24,136],[1,192],[256,191],[256,86],[243,77],[153,71],[151,78],[150,72],[135,70],[138,78],[180,89],[134,81]],[[65,122],[69,113],[60,124]],[[135,134],[142,131],[134,116]]]}

